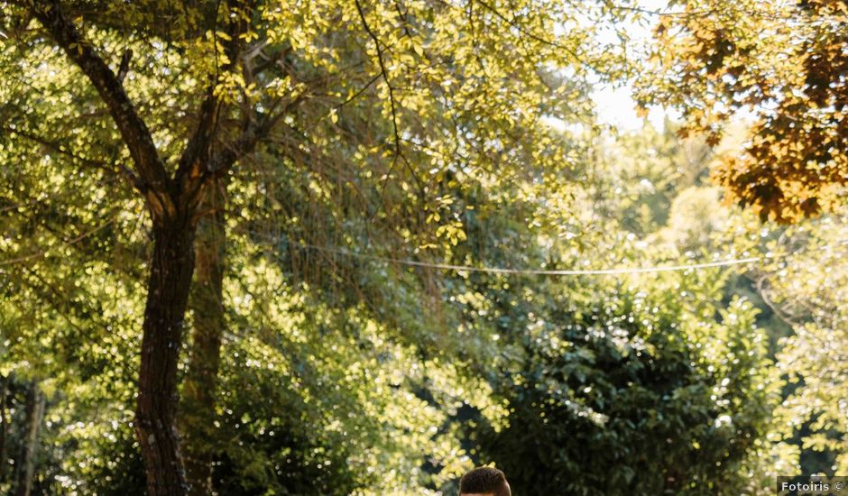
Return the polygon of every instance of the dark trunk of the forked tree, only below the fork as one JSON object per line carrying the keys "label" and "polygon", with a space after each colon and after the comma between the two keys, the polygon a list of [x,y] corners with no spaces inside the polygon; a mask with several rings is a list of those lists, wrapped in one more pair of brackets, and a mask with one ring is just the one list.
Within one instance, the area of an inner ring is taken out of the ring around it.
{"label": "dark trunk of the forked tree, only below the fork", "polygon": [[193,238],[189,214],[154,222],[135,408],[150,496],[188,493],[176,425],[177,362],[194,269]]}

